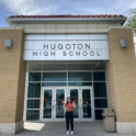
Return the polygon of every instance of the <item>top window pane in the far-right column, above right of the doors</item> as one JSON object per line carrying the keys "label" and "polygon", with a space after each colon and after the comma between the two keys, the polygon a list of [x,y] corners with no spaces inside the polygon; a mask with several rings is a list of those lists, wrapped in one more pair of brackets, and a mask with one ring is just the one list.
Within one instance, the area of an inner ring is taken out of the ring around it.
{"label": "top window pane in the far-right column, above right of the doors", "polygon": [[93,81],[105,81],[105,72],[93,72]]}

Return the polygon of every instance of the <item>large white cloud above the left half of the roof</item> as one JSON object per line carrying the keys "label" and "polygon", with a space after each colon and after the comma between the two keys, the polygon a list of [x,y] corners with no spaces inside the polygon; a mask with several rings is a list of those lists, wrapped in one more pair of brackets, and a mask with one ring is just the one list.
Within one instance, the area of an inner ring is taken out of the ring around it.
{"label": "large white cloud above the left half of the roof", "polygon": [[1,0],[13,14],[52,14],[56,7],[49,0]]}

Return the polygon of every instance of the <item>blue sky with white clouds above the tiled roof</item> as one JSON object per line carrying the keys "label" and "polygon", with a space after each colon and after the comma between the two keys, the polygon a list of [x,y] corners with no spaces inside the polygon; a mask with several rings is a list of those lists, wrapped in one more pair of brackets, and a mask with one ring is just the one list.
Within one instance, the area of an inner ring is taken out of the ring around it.
{"label": "blue sky with white clouds above the tiled roof", "polygon": [[9,15],[123,14],[136,8],[136,0],[0,0],[0,27]]}

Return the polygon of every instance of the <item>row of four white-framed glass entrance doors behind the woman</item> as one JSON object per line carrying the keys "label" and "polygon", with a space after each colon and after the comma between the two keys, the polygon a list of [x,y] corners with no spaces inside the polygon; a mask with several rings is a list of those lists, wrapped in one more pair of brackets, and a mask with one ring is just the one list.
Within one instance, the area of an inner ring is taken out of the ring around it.
{"label": "row of four white-framed glass entrance doors behind the woman", "polygon": [[65,109],[63,101],[67,102],[67,97],[75,101],[75,121],[93,121],[94,103],[92,98],[92,87],[70,87],[66,93],[64,87],[43,87],[42,91],[42,121],[59,122],[65,121]]}

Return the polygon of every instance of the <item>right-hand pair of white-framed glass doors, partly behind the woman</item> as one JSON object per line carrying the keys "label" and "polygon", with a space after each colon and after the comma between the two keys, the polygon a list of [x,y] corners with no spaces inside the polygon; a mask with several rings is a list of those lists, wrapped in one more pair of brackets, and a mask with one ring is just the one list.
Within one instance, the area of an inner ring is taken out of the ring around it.
{"label": "right-hand pair of white-framed glass doors, partly behind the woman", "polygon": [[93,121],[93,99],[91,87],[71,87],[68,89],[68,95],[75,101],[73,109],[75,121]]}

